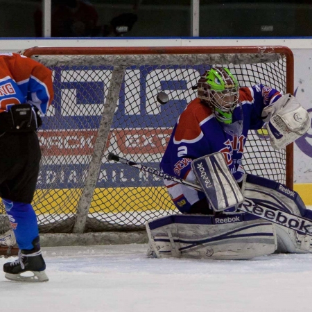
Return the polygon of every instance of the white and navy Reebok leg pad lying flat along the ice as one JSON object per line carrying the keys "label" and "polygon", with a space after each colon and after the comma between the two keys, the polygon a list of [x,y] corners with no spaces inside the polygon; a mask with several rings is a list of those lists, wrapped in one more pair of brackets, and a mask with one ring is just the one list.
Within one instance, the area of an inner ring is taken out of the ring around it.
{"label": "white and navy Reebok leg pad lying flat along the ice", "polygon": [[272,223],[250,214],[173,215],[146,223],[157,258],[251,259],[275,252]]}

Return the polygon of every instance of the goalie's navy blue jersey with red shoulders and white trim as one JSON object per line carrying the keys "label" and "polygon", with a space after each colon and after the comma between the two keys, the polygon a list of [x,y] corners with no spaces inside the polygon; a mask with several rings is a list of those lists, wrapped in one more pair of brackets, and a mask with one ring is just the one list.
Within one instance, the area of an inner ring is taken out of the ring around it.
{"label": "goalie's navy blue jersey with red shoulders and white trim", "polygon": [[[195,98],[177,120],[160,163],[161,170],[169,175],[186,179],[191,171],[193,159],[221,152],[234,178],[240,182],[244,173],[241,159],[248,131],[263,127],[261,118],[263,108],[272,105],[280,97],[279,91],[264,85],[241,87],[239,89],[241,108],[238,105],[233,114],[233,123],[241,120],[243,114],[243,130],[238,137],[227,134],[217,121],[213,110],[201,103],[200,98]],[[183,195],[182,191],[175,192],[174,189],[181,188],[181,185],[177,186],[166,180],[164,182],[176,204]],[[196,196],[191,203],[200,198],[202,196],[199,194],[199,198]],[[179,208],[178,205],[177,207]]]}

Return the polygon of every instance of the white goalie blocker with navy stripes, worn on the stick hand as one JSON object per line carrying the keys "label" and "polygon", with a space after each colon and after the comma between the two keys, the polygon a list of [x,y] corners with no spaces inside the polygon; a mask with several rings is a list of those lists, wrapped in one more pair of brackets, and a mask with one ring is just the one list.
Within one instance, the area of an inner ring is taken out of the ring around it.
{"label": "white goalie blocker with navy stripes, worn on the stick hand", "polygon": [[195,159],[191,167],[214,211],[223,211],[243,202],[243,193],[222,153]]}

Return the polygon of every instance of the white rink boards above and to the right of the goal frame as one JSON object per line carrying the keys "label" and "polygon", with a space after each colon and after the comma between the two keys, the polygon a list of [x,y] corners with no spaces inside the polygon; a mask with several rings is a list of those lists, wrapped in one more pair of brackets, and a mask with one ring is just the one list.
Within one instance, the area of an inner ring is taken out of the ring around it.
{"label": "white rink boards above and to the right of the goal frame", "polygon": [[[312,116],[311,38],[211,39],[175,38],[14,38],[0,39],[0,51],[17,52],[33,46],[288,46],[295,56],[295,96]],[[312,129],[295,143],[294,182],[306,201],[312,191]],[[304,184],[302,186],[302,184]],[[302,193],[301,193],[302,192]],[[304,195],[306,193],[306,196]]]}

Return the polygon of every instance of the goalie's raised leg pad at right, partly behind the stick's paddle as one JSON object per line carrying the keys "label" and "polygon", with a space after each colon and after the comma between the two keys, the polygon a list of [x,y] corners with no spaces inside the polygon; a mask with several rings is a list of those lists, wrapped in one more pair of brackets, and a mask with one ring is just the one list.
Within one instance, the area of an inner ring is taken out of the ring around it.
{"label": "goalie's raised leg pad at right, partly behind the stick's paddle", "polygon": [[[243,179],[243,193],[255,204],[275,210],[286,211],[296,216],[311,220],[299,194],[278,182],[246,174]],[[277,234],[277,252],[308,253],[312,252],[312,237],[275,225]]]}

